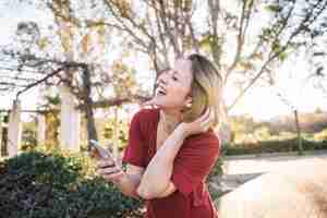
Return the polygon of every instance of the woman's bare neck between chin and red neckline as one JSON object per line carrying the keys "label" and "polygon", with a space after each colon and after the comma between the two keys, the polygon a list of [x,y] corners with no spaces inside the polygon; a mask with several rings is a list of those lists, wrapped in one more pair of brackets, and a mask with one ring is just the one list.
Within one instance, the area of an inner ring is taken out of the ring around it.
{"label": "woman's bare neck between chin and red neckline", "polygon": [[180,111],[161,110],[160,121],[167,133],[171,133],[181,121]]}

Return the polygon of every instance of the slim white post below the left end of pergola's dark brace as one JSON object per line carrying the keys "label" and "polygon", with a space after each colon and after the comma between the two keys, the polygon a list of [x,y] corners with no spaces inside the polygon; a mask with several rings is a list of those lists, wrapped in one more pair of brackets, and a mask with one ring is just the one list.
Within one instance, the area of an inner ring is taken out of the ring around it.
{"label": "slim white post below the left end of pergola's dark brace", "polygon": [[22,123],[20,100],[13,101],[8,126],[8,155],[11,158],[17,155],[19,147],[21,147]]}

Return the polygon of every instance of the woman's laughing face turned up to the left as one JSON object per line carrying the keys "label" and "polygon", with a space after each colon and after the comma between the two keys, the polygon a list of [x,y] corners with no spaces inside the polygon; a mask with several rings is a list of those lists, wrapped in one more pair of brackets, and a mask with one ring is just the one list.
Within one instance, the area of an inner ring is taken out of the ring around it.
{"label": "woman's laughing face turned up to the left", "polygon": [[184,108],[187,101],[193,74],[191,72],[191,61],[178,59],[174,68],[161,73],[157,80],[155,105],[165,109]]}

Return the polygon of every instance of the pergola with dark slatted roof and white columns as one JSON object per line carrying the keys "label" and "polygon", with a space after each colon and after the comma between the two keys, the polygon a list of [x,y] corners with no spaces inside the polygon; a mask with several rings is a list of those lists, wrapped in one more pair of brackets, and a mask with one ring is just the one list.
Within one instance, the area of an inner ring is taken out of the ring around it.
{"label": "pergola with dark slatted roof and white columns", "polygon": [[[81,70],[85,73],[87,68],[86,63],[74,62],[74,61],[60,61],[52,59],[43,59],[34,56],[28,56],[31,65],[20,65],[19,60],[25,60],[26,56],[17,51],[11,51],[2,49],[0,50],[0,70],[3,73],[0,74],[0,95],[1,92],[14,92],[16,94],[15,99],[12,102],[9,111],[8,124],[1,123],[0,121],[0,148],[5,144],[9,157],[17,155],[22,142],[22,112],[28,112],[22,109],[21,96],[26,90],[34,88],[43,83],[48,85],[59,86],[58,90],[60,94],[61,106],[60,106],[60,147],[72,152],[80,152],[80,132],[81,132],[81,109],[77,109],[77,99],[75,95],[71,93],[69,83],[51,84],[49,80],[55,76],[59,76],[60,73],[65,71]],[[70,59],[68,59],[70,60]],[[25,63],[24,62],[24,63]],[[10,66],[2,63],[11,63]],[[51,64],[50,64],[51,63]],[[49,64],[51,66],[49,66]],[[34,65],[38,65],[39,69],[34,69]],[[26,66],[26,68],[24,68]],[[22,73],[23,72],[23,73]],[[61,75],[62,76],[62,75]],[[68,76],[68,75],[64,75]],[[63,76],[63,77],[64,77]],[[59,76],[60,77],[60,76]],[[61,80],[61,78],[60,78]],[[84,82],[84,81],[83,81]],[[25,94],[24,94],[25,95]],[[0,107],[1,111],[1,107]],[[37,112],[37,111],[34,111]],[[3,131],[7,129],[7,131]],[[3,142],[2,142],[3,141]],[[4,142],[5,141],[5,142]],[[44,113],[37,113],[37,143],[45,144],[46,141],[46,118]]]}

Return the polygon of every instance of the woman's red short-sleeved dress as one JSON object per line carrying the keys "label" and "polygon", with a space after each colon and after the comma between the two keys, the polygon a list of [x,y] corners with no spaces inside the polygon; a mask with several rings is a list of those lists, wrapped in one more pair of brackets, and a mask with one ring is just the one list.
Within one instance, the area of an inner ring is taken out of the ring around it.
{"label": "woman's red short-sleeved dress", "polygon": [[[156,154],[159,109],[142,109],[132,119],[123,161],[146,168]],[[205,179],[220,154],[213,131],[185,138],[171,177],[177,191],[146,202],[146,218],[217,218]]]}

